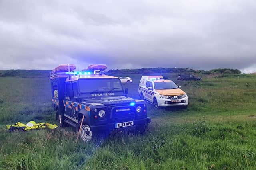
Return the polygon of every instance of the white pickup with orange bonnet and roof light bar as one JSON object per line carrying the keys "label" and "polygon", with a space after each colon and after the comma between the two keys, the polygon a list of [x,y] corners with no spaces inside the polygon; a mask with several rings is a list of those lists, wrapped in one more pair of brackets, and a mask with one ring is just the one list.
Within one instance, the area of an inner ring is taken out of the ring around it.
{"label": "white pickup with orange bonnet and roof light bar", "polygon": [[172,80],[163,76],[142,76],[138,92],[142,100],[155,108],[166,106],[188,106],[188,96]]}

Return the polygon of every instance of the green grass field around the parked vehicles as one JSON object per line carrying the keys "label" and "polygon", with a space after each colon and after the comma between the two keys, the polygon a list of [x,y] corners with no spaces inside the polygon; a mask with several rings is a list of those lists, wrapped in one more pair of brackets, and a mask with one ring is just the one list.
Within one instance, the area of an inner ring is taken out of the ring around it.
{"label": "green grass field around the parked vehicles", "polygon": [[[139,98],[141,75],[129,76],[134,82],[124,86]],[[0,78],[0,169],[255,170],[256,76],[176,83],[188,94],[188,109],[148,104],[146,135],[113,133],[100,144],[75,144],[68,127],[8,132],[5,125],[17,121],[57,121],[48,78]]]}

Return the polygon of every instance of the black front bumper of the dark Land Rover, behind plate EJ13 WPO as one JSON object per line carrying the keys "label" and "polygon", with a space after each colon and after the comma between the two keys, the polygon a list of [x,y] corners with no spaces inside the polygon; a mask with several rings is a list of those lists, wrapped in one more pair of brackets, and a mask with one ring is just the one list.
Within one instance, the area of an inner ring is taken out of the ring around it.
{"label": "black front bumper of the dark Land Rover, behind plate EJ13 WPO", "polygon": [[[133,126],[128,126],[128,127],[124,127],[124,128],[117,128],[117,129],[133,129],[134,127],[136,127],[136,125],[140,125],[140,124],[145,124],[145,123],[150,123],[151,119],[150,117],[144,118],[144,119],[134,119],[133,120]],[[115,128],[115,124],[116,123],[109,123],[107,125],[91,125],[90,126],[90,130],[93,132],[104,132],[104,131],[112,131]]]}

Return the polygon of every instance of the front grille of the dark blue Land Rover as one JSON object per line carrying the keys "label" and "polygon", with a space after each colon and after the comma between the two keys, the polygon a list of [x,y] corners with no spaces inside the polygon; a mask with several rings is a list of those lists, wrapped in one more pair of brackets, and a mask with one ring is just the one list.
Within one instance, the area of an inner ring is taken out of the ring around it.
{"label": "front grille of the dark blue Land Rover", "polygon": [[[129,109],[129,110],[128,110]],[[116,111],[118,110],[118,111]],[[132,121],[135,118],[135,107],[132,106],[112,106],[108,107],[108,113],[112,123]]]}

